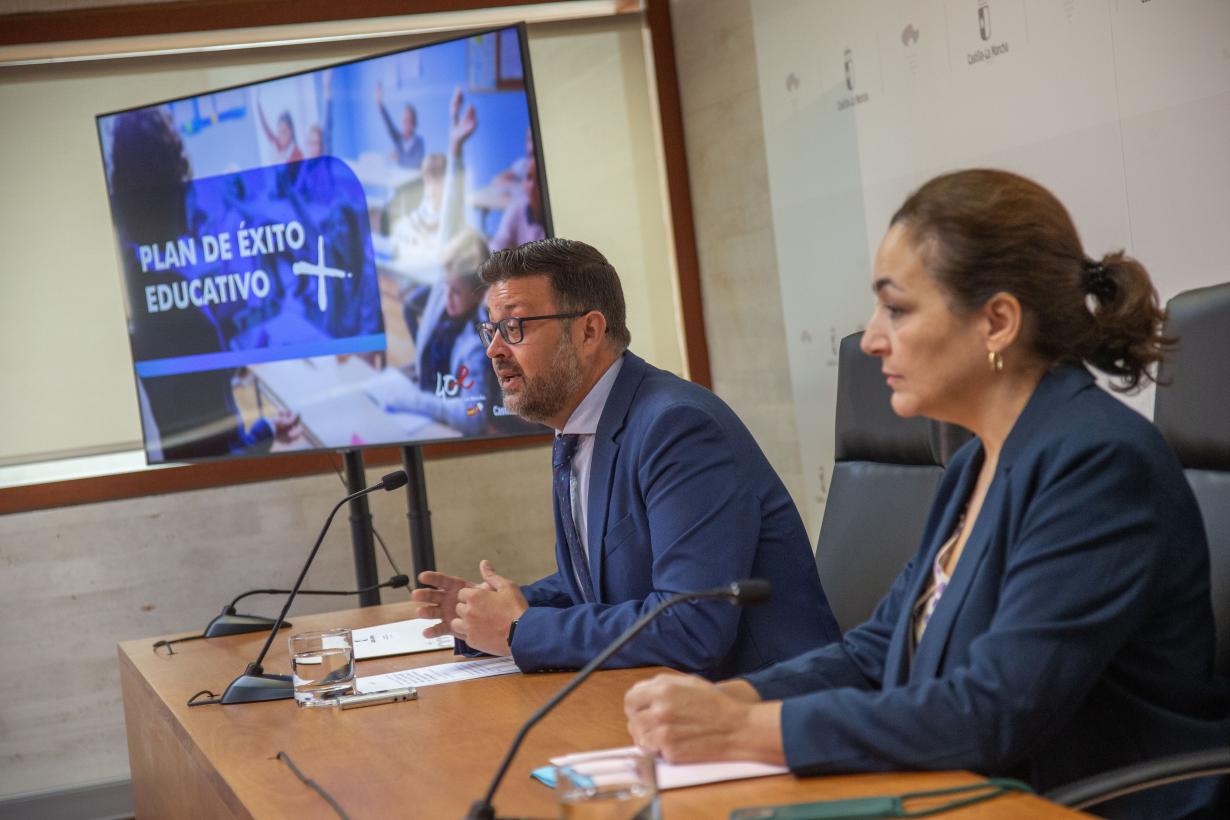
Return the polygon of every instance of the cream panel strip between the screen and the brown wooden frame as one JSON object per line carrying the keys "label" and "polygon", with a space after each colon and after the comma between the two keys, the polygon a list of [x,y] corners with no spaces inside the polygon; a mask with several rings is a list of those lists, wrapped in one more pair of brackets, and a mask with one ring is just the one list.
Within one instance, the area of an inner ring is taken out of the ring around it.
{"label": "cream panel strip between the screen and the brown wooden frame", "polygon": [[[631,23],[569,25],[566,36],[544,26],[533,41],[551,210],[558,236],[589,242],[619,270],[632,349],[681,374],[676,273],[654,148],[662,136],[642,30]],[[557,162],[557,152],[569,161]]]}

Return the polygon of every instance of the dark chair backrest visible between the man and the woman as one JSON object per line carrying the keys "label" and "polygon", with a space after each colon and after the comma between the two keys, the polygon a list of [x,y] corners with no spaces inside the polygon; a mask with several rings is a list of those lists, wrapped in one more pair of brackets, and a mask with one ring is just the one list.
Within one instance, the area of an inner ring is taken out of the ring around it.
{"label": "dark chair backrest visible between the man and the woman", "polygon": [[815,566],[841,632],[871,616],[922,536],[943,465],[969,432],[893,412],[879,359],[841,339],[835,463]]}

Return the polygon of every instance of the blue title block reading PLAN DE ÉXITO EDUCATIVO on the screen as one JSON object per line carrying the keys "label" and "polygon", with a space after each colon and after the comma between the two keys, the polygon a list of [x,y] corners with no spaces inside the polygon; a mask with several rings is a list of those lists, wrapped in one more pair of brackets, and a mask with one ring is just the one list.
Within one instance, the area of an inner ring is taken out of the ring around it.
{"label": "blue title block reading PLAN DE \u00c9XITO EDUCATIVO on the screen", "polygon": [[[154,239],[164,215],[143,204],[180,197],[187,234]],[[138,376],[385,349],[367,202],[344,162],[321,156],[193,179],[186,195],[181,182],[132,188],[112,205],[121,234],[150,239],[123,248],[133,309],[162,315],[156,337],[134,339]],[[193,332],[205,311],[225,347]],[[173,355],[169,342],[178,343]]]}

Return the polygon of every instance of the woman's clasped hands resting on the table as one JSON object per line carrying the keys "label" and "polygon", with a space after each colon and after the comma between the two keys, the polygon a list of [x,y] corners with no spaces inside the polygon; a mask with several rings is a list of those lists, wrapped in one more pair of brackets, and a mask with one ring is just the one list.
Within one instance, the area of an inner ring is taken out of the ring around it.
{"label": "woman's clasped hands resting on the table", "polygon": [[785,762],[781,703],[758,702],[744,681],[718,686],[690,675],[657,675],[627,691],[624,713],[632,743],[672,763]]}

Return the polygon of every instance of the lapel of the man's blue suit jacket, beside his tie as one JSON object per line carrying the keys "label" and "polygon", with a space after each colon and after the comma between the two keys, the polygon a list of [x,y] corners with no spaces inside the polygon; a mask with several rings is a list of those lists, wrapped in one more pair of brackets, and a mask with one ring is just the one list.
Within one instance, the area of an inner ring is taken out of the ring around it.
{"label": "lapel of the man's blue suit jacket, beside his tie", "polygon": [[594,433],[594,452],[589,462],[589,508],[585,510],[585,543],[589,554],[589,574],[594,581],[594,600],[601,601],[603,574],[603,532],[606,531],[606,518],[610,513],[611,483],[615,479],[615,462],[620,449],[620,433],[627,420],[632,397],[641,380],[645,379],[647,365],[632,353],[624,353],[615,385],[606,397],[601,418],[598,419],[598,432]]}

